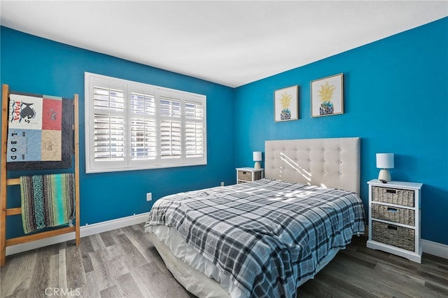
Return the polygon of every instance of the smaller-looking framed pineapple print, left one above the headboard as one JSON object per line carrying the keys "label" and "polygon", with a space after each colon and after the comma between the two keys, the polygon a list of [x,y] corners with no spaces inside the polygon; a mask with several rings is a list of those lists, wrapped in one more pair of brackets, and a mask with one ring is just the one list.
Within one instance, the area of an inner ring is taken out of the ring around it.
{"label": "smaller-looking framed pineapple print, left one above the headboard", "polygon": [[299,119],[299,86],[294,85],[274,91],[274,121]]}

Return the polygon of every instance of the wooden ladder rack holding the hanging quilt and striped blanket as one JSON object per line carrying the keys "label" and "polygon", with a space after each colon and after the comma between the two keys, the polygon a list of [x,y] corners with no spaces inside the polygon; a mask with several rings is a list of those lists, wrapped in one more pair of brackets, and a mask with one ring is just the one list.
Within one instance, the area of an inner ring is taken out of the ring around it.
{"label": "wooden ladder rack holding the hanging quilt and striped blanket", "polygon": [[46,232],[38,232],[28,236],[20,236],[12,239],[6,239],[6,217],[9,215],[22,214],[22,208],[7,208],[7,188],[10,185],[20,185],[20,178],[7,178],[6,171],[6,154],[7,154],[7,134],[8,134],[8,99],[9,87],[3,85],[2,88],[2,107],[1,107],[1,181],[0,181],[0,266],[3,266],[6,261],[6,247],[15,246],[20,243],[27,243],[39,239],[45,239],[52,236],[75,232],[76,245],[80,244],[80,207],[79,207],[79,133],[78,133],[78,94],[74,94],[74,120],[73,120],[73,134],[75,147],[75,225],[73,227],[61,227],[52,229]]}

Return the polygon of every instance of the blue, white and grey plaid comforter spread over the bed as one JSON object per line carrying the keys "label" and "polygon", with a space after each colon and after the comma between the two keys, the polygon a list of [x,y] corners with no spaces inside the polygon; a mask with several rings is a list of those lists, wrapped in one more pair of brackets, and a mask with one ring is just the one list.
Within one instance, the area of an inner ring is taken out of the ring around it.
{"label": "blue, white and grey plaid comforter spread over the bed", "polygon": [[159,199],[146,227],[175,227],[248,297],[295,297],[364,223],[354,192],[262,179]]}

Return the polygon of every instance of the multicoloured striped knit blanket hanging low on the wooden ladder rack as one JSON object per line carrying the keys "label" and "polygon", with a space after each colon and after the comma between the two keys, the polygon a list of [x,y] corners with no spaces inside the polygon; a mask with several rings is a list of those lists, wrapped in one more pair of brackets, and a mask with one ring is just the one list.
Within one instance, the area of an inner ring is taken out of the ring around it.
{"label": "multicoloured striped knit blanket hanging low on the wooden ladder rack", "polygon": [[65,225],[75,215],[73,173],[20,177],[22,223],[26,234]]}

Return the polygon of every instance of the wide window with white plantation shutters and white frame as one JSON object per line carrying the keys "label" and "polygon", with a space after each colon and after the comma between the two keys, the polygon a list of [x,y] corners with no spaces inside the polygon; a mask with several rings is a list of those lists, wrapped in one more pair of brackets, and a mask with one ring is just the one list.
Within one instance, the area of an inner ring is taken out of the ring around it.
{"label": "wide window with white plantation shutters and white frame", "polygon": [[206,97],[85,73],[87,173],[207,164]]}

